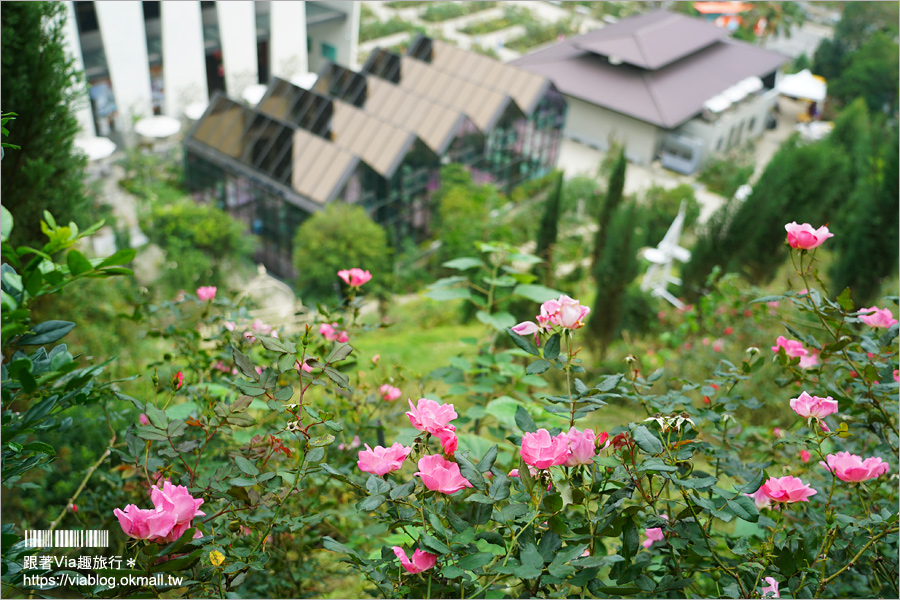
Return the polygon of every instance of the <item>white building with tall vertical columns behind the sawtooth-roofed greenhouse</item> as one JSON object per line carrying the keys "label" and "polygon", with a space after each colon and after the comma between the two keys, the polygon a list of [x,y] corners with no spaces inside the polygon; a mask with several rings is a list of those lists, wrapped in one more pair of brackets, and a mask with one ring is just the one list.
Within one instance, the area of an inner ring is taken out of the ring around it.
{"label": "white building with tall vertical columns behind the sawtooth-roofed greenhouse", "polygon": [[89,85],[86,135],[134,118],[180,118],[216,91],[302,77],[327,61],[356,66],[359,2],[65,2],[67,41]]}

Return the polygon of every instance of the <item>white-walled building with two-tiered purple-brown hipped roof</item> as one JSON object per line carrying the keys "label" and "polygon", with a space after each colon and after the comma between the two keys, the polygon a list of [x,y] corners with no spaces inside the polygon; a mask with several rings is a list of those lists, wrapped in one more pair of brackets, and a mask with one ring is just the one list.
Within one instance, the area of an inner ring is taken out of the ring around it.
{"label": "white-walled building with two-tiered purple-brown hipped roof", "polygon": [[690,173],[758,137],[786,57],[701,19],[655,11],[515,61],[549,78],[569,106],[564,135],[631,162]]}

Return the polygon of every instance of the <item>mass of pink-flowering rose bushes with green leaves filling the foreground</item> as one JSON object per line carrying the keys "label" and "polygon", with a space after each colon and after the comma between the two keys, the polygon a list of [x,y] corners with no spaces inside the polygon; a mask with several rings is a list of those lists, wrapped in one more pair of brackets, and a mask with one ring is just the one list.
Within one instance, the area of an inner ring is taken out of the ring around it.
{"label": "mass of pink-flowering rose bushes with green leaves filling the foreground", "polygon": [[[149,331],[171,348],[144,384],[148,398],[76,396],[130,403],[105,475],[115,503],[98,511],[136,562],[121,574],[183,574],[182,589],[160,590],[183,597],[324,594],[315,586],[338,560],[365,579],[360,593],[396,598],[896,597],[898,324],[867,322],[873,309],[857,309],[849,291],[830,299],[819,246],[792,250],[803,292],[741,307],[752,319],[791,304],[806,318],[785,320],[774,354],[752,348],[730,362],[723,347],[698,383],[644,373],[638,359],[624,373],[589,371],[587,308],[534,285],[524,268],[534,257],[500,244],[450,261],[460,275],[430,286],[435,299],[471,303],[486,334],[407,402],[395,401],[403,392],[384,359],[341,341],[370,327],[359,317],[368,279],[353,269],[336,274],[349,287],[343,303],[296,332],[221,292],[146,307]],[[117,263],[88,264],[73,255],[68,268],[87,276]],[[62,281],[44,277],[47,290]],[[34,284],[21,279],[4,266],[4,303],[19,303],[9,314],[27,306]],[[514,297],[534,303],[534,321],[516,325]],[[4,327],[15,324],[7,314]],[[18,318],[18,345],[46,333]],[[722,321],[723,339],[737,337]],[[29,379],[43,373],[40,352],[9,361],[6,331],[3,468],[15,484],[21,470],[7,469],[47,450],[29,445],[28,415],[55,380]],[[758,398],[752,378],[773,363],[781,387]],[[643,414],[621,418],[622,406]],[[767,410],[790,425],[751,423]],[[8,550],[5,538],[3,581],[50,573],[24,568],[34,551]]]}

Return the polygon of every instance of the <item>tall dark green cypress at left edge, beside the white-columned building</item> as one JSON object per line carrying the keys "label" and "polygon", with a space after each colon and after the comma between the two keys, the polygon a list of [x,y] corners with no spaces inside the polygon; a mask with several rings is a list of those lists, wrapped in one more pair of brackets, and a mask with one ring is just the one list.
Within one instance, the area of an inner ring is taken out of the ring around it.
{"label": "tall dark green cypress at left edge, beside the white-columned building", "polygon": [[[9,142],[2,171],[3,206],[16,220],[10,242],[43,243],[40,221],[49,210],[59,223],[86,224],[85,159],[73,152],[80,126],[72,112],[83,99],[81,73],[66,54],[62,2],[4,2],[2,10],[3,111]],[[82,221],[84,219],[84,221]]]}

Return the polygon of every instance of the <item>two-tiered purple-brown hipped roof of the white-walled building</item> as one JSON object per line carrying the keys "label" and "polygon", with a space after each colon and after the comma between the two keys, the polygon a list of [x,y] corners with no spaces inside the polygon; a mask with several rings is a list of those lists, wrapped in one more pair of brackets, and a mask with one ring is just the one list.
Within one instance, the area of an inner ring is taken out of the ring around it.
{"label": "two-tiered purple-brown hipped roof of the white-walled building", "polygon": [[[668,16],[677,18],[671,22],[663,19]],[[765,77],[787,60],[775,52],[730,38],[709,42],[655,70],[627,64],[624,57],[619,57],[622,64],[611,64],[608,57],[585,49],[589,44],[596,49],[595,42],[601,33],[605,33],[603,39],[613,40],[618,39],[617,30],[624,31],[622,37],[627,37],[662,22],[669,23],[664,28],[668,38],[673,37],[671,28],[676,25],[683,27],[686,35],[696,32],[695,23],[717,29],[697,19],[657,11],[569,38],[523,56],[513,64],[547,77],[564,94],[672,129],[699,114],[703,103],[712,96],[746,77]],[[672,56],[687,47],[682,42],[673,44]],[[663,57],[664,53],[654,49],[650,56]],[[657,63],[663,60],[654,59]]]}

